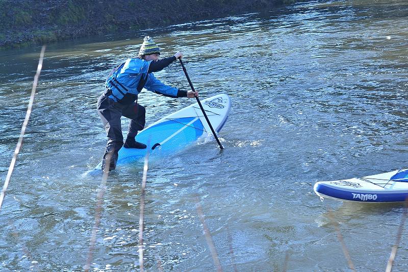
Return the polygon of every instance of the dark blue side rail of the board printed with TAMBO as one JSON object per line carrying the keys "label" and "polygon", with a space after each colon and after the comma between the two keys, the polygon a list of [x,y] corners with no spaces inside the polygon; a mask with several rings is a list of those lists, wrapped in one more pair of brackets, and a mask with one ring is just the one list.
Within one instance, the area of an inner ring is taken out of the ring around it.
{"label": "dark blue side rail of the board printed with TAMBO", "polygon": [[353,192],[334,189],[321,183],[317,184],[315,191],[330,197],[335,197],[336,199],[356,202],[404,202],[408,197],[408,191],[405,193],[361,193],[359,191]]}

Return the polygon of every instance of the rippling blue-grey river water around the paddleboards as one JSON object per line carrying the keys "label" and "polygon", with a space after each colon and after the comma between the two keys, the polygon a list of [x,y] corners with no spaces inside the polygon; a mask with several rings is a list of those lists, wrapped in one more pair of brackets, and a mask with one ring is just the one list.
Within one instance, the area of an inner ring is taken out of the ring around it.
{"label": "rippling blue-grey river water around the paddleboards", "polygon": [[[225,271],[384,271],[402,204],[320,202],[313,185],[406,168],[408,3],[307,2],[160,29],[50,44],[0,211],[0,270],[83,270],[106,136],[96,100],[144,35],[184,52],[202,98],[227,93],[219,136],[149,164],[144,267]],[[1,185],[27,109],[40,47],[0,57]],[[188,90],[179,64],[156,76]],[[193,103],[147,91],[147,125]],[[128,121],[123,119],[123,129]],[[91,270],[138,270],[142,163],[108,179]],[[404,232],[405,233],[405,232]],[[403,239],[394,271],[408,269]]]}

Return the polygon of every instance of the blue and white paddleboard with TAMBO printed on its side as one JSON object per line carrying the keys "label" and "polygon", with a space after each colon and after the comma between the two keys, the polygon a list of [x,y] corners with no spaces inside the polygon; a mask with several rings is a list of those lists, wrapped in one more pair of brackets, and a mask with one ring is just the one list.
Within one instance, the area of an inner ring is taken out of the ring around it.
{"label": "blue and white paddleboard with TAMBO printed on its side", "polygon": [[313,188],[324,197],[357,202],[404,202],[408,197],[408,169],[348,180],[319,181]]}

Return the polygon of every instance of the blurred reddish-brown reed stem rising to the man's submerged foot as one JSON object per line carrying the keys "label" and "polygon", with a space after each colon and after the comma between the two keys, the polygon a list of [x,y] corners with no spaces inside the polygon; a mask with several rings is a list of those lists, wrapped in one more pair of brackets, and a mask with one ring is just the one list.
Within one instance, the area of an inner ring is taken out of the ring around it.
{"label": "blurred reddish-brown reed stem rising to the man's submerged foot", "polygon": [[[112,158],[112,156],[107,156],[105,165],[108,165],[108,166],[110,165],[111,158]],[[86,264],[84,266],[85,272],[89,272],[89,269],[91,267],[91,262],[92,262],[92,257],[93,257],[92,256],[93,255],[93,250],[95,249],[96,233],[98,232],[98,227],[99,227],[99,223],[100,223],[100,214],[102,212],[102,204],[104,202],[106,181],[108,180],[108,176],[109,176],[109,171],[103,171],[103,173],[104,174],[103,174],[102,180],[100,182],[100,189],[99,189],[97,197],[96,197],[98,202],[97,202],[96,209],[95,209],[95,224],[93,226],[91,238],[90,238],[90,241],[89,241],[88,258],[87,258]]]}

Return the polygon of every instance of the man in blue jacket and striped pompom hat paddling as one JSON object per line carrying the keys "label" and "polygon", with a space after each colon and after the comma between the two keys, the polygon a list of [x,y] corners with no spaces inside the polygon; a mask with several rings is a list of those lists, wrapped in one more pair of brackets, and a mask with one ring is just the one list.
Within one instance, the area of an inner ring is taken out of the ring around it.
{"label": "man in blue jacket and striped pompom hat paddling", "polygon": [[[135,137],[145,125],[146,110],[137,103],[138,94],[143,88],[169,97],[198,96],[195,91],[182,91],[159,81],[153,72],[167,67],[173,61],[181,59],[183,54],[177,52],[173,57],[159,59],[160,48],[149,37],[143,39],[137,58],[127,59],[113,69],[106,80],[105,91],[99,96],[97,110],[108,136],[102,169],[111,171],[116,168],[118,151],[123,146],[127,149],[145,149],[146,144],[137,142]],[[123,143],[120,117],[131,119]]]}

